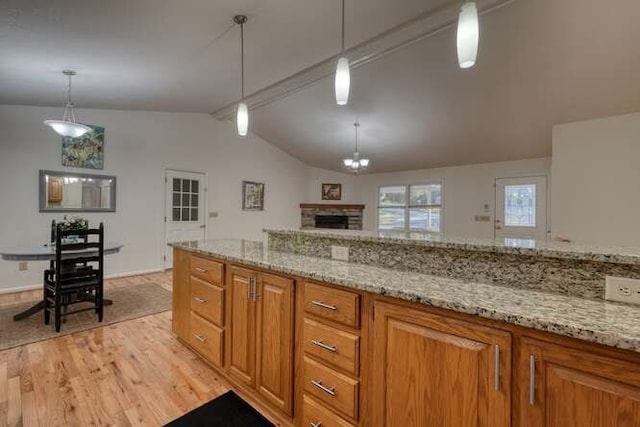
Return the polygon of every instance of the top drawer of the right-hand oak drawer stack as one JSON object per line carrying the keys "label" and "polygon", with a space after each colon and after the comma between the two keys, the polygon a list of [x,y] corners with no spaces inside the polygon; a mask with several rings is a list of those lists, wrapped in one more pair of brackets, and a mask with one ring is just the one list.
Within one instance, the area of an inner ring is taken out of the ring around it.
{"label": "top drawer of the right-hand oak drawer stack", "polygon": [[307,282],[304,309],[352,328],[360,327],[360,295],[353,292]]}

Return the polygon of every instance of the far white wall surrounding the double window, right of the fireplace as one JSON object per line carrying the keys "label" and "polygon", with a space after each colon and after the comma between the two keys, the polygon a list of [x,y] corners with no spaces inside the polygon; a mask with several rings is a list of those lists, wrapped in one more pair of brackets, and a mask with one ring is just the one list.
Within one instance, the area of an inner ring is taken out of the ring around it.
{"label": "far white wall surrounding the double window, right of the fireplace", "polygon": [[[493,238],[495,179],[548,175],[550,164],[551,159],[545,157],[358,176],[356,191],[366,204],[363,227],[367,230],[376,228],[378,187],[442,182],[444,233],[448,236]],[[488,205],[488,211],[485,205]],[[476,222],[476,215],[490,215],[491,221]]]}

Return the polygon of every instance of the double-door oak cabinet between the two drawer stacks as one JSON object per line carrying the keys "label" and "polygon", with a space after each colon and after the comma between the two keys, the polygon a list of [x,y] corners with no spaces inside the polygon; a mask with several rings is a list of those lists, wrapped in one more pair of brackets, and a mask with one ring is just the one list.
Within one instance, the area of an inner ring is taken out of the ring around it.
{"label": "double-door oak cabinet between the two drawer stacks", "polygon": [[293,415],[293,282],[229,269],[229,373],[288,415]]}

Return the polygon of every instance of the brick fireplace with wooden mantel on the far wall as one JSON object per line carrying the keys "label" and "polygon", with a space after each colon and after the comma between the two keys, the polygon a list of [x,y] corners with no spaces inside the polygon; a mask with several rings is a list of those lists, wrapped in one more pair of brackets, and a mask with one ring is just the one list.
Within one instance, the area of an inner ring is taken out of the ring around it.
{"label": "brick fireplace with wooden mantel on the far wall", "polygon": [[301,228],[362,230],[364,205],[300,203]]}

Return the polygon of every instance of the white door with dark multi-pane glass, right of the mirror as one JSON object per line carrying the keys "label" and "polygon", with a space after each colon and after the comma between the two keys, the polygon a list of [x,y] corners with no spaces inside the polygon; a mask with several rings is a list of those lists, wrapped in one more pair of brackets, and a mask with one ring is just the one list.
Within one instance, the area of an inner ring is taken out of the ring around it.
{"label": "white door with dark multi-pane glass, right of the mirror", "polygon": [[[202,173],[166,170],[165,243],[206,238],[204,183]],[[166,246],[165,268],[172,267],[172,255],[172,248]]]}

